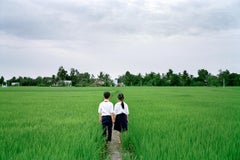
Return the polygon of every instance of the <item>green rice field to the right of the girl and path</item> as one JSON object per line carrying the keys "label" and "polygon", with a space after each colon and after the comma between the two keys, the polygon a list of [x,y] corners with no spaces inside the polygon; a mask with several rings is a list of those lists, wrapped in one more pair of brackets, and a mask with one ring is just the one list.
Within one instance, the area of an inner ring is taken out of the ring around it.
{"label": "green rice field to the right of the girl and path", "polygon": [[124,142],[135,159],[240,159],[240,88],[137,90]]}

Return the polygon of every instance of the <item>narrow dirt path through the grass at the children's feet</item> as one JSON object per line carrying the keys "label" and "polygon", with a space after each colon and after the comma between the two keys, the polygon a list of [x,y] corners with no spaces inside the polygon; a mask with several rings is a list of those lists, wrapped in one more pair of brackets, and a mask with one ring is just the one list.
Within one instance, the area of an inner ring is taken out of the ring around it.
{"label": "narrow dirt path through the grass at the children's feet", "polygon": [[121,160],[121,144],[119,142],[118,132],[113,130],[112,141],[108,143],[109,158],[111,160]]}

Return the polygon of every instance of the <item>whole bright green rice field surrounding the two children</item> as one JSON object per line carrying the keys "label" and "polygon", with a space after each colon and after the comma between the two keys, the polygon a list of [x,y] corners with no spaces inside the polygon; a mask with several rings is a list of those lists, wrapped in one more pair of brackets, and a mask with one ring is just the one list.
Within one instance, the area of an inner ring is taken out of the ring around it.
{"label": "whole bright green rice field surrounding the two children", "polygon": [[0,159],[107,159],[104,91],[129,105],[123,159],[240,159],[240,88],[0,88]]}

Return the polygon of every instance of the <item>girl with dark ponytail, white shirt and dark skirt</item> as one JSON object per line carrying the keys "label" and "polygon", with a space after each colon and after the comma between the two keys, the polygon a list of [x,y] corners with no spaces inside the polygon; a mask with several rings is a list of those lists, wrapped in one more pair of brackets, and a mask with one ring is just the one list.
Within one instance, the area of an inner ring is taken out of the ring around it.
{"label": "girl with dark ponytail, white shirt and dark skirt", "polygon": [[[118,94],[118,102],[114,106],[114,130],[119,132],[119,139],[120,133],[123,131],[128,130],[128,105],[124,101],[124,95],[122,93]],[[119,140],[121,143],[121,140]]]}

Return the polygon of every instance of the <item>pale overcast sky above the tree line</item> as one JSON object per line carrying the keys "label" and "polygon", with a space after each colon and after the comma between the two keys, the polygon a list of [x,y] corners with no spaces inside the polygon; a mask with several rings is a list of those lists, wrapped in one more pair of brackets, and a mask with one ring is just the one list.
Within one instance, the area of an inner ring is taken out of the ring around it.
{"label": "pale overcast sky above the tree line", "polygon": [[0,76],[240,73],[239,0],[0,0]]}

